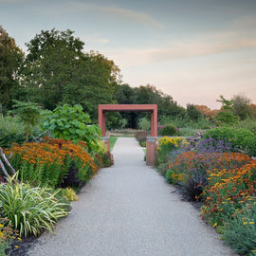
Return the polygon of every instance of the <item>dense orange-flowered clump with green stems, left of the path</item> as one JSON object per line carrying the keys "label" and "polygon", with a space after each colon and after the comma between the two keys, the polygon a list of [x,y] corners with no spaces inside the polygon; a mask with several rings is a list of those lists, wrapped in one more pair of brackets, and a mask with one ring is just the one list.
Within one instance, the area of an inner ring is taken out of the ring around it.
{"label": "dense orange-flowered clump with green stems, left of the path", "polygon": [[[85,146],[84,144],[83,146]],[[6,155],[19,178],[34,185],[81,188],[97,172],[97,166],[81,145],[45,137],[42,143],[13,145]]]}

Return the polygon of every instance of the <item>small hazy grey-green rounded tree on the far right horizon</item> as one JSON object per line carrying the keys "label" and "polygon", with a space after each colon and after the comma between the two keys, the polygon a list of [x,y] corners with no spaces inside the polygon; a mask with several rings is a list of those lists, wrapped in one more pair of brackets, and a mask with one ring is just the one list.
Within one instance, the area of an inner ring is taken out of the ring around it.
{"label": "small hazy grey-green rounded tree on the far right horizon", "polygon": [[240,119],[247,119],[253,117],[253,108],[250,106],[250,100],[243,94],[232,97],[233,113]]}

